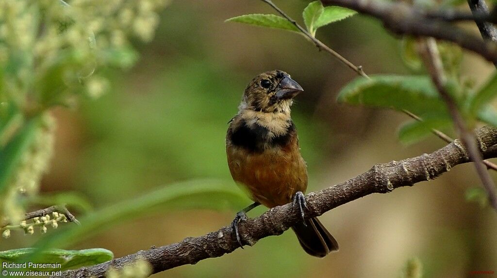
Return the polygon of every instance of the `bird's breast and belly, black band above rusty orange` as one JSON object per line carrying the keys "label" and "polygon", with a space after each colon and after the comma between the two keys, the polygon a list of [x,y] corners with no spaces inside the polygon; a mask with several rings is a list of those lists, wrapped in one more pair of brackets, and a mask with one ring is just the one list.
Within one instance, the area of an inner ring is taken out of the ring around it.
{"label": "bird's breast and belly, black band above rusty orange", "polygon": [[267,207],[284,205],[307,188],[307,168],[293,122],[288,132],[272,136],[245,123],[228,131],[226,153],[233,179],[252,199]]}

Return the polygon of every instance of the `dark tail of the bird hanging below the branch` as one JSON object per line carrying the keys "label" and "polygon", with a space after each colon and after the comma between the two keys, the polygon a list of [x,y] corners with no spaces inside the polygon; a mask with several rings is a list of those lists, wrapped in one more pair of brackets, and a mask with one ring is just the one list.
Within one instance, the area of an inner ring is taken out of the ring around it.
{"label": "dark tail of the bird hanging below the branch", "polygon": [[307,254],[324,257],[338,251],[338,242],[317,218],[311,218],[292,227],[300,245]]}

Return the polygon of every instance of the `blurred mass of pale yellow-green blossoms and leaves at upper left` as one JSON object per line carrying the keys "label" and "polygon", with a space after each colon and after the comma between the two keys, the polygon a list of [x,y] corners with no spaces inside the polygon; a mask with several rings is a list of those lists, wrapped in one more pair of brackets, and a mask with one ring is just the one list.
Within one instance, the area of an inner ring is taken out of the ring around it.
{"label": "blurred mass of pale yellow-green blossoms and leaves at upper left", "polygon": [[[136,60],[129,38],[149,41],[164,0],[0,1],[0,216],[17,222],[51,156],[47,112],[98,97],[99,68]],[[21,174],[21,171],[22,172]]]}

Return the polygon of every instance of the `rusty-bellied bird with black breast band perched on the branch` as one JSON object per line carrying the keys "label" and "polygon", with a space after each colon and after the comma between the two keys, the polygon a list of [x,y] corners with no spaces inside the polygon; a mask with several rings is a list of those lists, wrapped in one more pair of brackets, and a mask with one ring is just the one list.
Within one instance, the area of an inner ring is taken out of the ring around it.
{"label": "rusty-bellied bird with black breast band perched on the branch", "polygon": [[303,221],[292,229],[304,251],[320,258],[338,251],[337,241],[317,218],[304,218],[308,173],[290,115],[293,98],[303,91],[282,70],[263,72],[250,81],[238,114],[228,122],[228,166],[233,180],[254,202],[232,222],[242,248],[238,224],[247,219],[248,211],[259,205],[273,208],[293,202]]}

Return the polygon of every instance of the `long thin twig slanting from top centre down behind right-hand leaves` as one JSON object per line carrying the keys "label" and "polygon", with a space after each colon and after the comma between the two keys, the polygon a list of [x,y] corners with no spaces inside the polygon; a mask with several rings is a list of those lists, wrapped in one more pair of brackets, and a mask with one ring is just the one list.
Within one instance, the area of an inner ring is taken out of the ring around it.
{"label": "long thin twig slanting from top centre down behind right-hand leaves", "polygon": [[[332,56],[337,57],[341,62],[345,63],[348,67],[350,67],[358,75],[363,76],[363,77],[365,77],[367,79],[371,79],[364,72],[364,70],[362,69],[362,66],[356,66],[356,65],[354,65],[352,62],[350,62],[349,60],[347,60],[343,56],[339,55],[337,52],[335,52],[334,50],[332,50],[326,44],[324,44],[323,42],[321,42],[320,40],[318,40],[316,37],[314,37],[313,35],[311,35],[309,32],[307,32],[306,29],[304,29],[302,26],[300,26],[300,24],[298,24],[293,18],[291,18],[290,16],[288,16],[283,10],[281,10],[272,1],[270,1],[270,0],[262,0],[262,1],[266,2],[267,4],[269,4],[273,9],[275,9],[279,14],[281,14],[281,16],[283,16],[284,18],[286,18],[295,27],[297,27],[297,29],[299,29],[309,40],[311,40],[316,45],[316,47],[318,47],[319,50],[325,50],[326,52],[330,53]],[[447,14],[446,14],[446,16],[448,16]],[[474,19],[472,15],[469,15],[469,16],[471,17],[471,19]],[[421,117],[417,116],[416,114],[414,114],[411,111],[403,109],[402,112],[404,112],[405,114],[407,114],[408,116],[412,117],[413,119],[415,119],[417,121],[423,121],[423,119]],[[438,138],[444,140],[447,143],[450,143],[450,142],[454,141],[454,139],[452,139],[450,136],[448,136],[447,134],[443,133],[442,131],[440,131],[438,129],[432,128],[431,129],[431,133],[435,134]],[[487,166],[487,168],[493,169],[493,170],[497,171],[497,165],[495,165],[495,164],[493,164],[493,163],[491,163],[489,161],[484,161],[484,163]]]}

